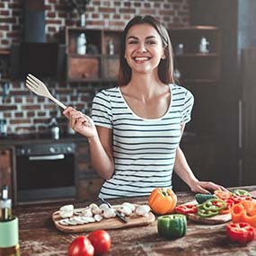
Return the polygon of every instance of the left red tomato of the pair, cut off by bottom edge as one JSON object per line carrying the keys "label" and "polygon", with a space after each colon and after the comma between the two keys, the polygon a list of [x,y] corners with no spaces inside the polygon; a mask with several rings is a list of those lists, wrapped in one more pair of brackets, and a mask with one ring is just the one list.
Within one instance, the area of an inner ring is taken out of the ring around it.
{"label": "left red tomato of the pair, cut off by bottom edge", "polygon": [[90,240],[84,236],[76,237],[68,246],[68,256],[93,256],[94,248]]}

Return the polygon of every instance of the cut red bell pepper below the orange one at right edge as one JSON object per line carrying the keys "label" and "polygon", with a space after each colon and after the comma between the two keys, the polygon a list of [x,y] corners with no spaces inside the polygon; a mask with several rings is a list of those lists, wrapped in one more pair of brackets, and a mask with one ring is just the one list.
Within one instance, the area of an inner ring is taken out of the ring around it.
{"label": "cut red bell pepper below the orange one at right edge", "polygon": [[249,225],[248,223],[230,223],[226,225],[226,234],[232,242],[245,244],[254,239],[255,230],[252,225]]}

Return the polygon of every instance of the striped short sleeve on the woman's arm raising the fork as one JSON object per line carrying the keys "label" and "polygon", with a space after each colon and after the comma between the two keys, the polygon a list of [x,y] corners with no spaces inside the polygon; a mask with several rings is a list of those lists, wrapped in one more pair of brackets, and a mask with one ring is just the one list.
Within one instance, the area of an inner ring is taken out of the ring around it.
{"label": "striped short sleeve on the woman's arm raising the fork", "polygon": [[102,91],[93,99],[92,119],[96,126],[112,128],[112,109],[110,96]]}

